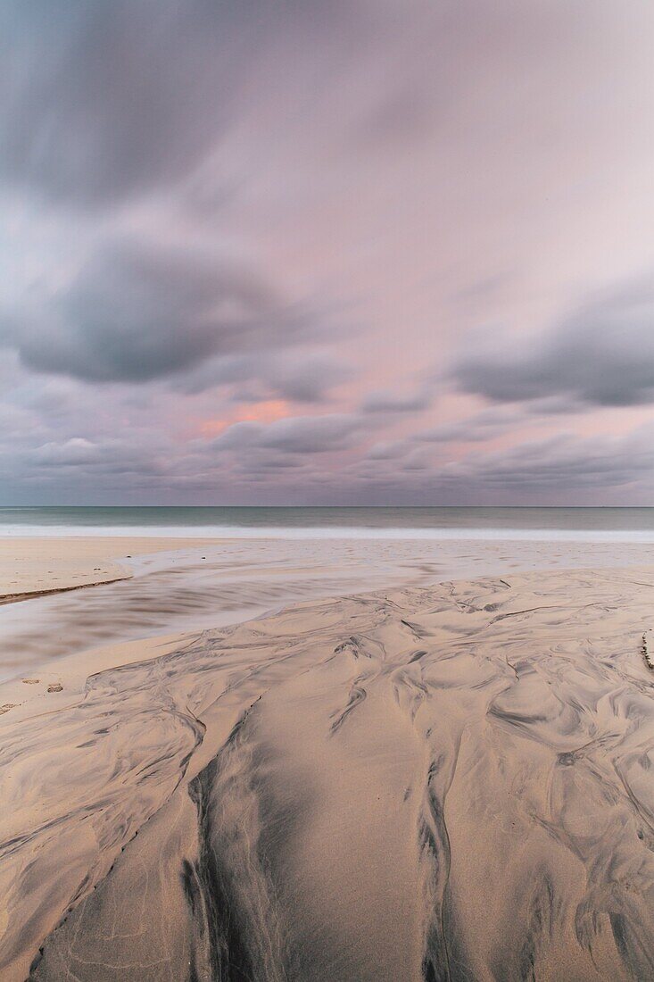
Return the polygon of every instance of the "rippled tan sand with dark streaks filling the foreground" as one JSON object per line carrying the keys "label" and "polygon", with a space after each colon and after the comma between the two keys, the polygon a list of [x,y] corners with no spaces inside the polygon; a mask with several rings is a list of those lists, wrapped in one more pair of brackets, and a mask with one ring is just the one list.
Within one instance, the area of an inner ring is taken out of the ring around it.
{"label": "rippled tan sand with dark streaks filling the foreground", "polygon": [[653,571],[512,574],[34,695],[0,977],[653,978],[653,621]]}

